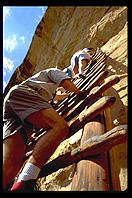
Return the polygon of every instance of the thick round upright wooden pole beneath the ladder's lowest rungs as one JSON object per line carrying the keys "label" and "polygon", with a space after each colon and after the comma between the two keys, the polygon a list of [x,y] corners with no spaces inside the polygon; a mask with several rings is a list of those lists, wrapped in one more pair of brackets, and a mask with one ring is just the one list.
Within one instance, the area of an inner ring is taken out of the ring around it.
{"label": "thick round upright wooden pole beneath the ladder's lowest rungs", "polygon": [[[104,133],[103,115],[98,115],[84,127],[81,144],[88,138]],[[109,176],[107,153],[98,155],[93,160],[81,160],[77,163],[76,172],[72,180],[71,191],[108,191]]]}

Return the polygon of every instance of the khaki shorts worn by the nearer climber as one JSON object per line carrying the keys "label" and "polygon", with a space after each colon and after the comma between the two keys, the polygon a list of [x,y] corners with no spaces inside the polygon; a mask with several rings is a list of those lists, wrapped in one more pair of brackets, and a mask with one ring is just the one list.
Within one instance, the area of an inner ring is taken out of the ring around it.
{"label": "khaki shorts worn by the nearer climber", "polygon": [[4,99],[3,139],[18,131],[22,133],[23,137],[27,137],[26,133],[28,133],[29,130],[31,131],[33,126],[31,124],[25,124],[25,118],[41,109],[51,107],[52,106],[47,101],[28,86],[13,86]]}

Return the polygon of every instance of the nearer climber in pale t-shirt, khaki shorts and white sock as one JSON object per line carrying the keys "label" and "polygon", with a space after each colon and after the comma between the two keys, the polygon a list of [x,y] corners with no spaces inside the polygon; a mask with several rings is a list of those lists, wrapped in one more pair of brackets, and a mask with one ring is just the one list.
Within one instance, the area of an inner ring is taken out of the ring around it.
{"label": "nearer climber in pale t-shirt, khaki shorts and white sock", "polygon": [[28,136],[34,127],[47,132],[37,141],[10,191],[32,191],[42,166],[68,134],[66,121],[49,103],[59,86],[77,95],[82,93],[63,71],[50,68],[13,86],[6,95],[3,107],[3,189],[23,166]]}

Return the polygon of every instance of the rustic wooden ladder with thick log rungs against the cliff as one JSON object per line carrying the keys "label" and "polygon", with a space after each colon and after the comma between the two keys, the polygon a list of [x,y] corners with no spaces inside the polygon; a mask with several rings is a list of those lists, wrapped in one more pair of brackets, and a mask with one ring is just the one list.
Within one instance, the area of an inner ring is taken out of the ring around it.
{"label": "rustic wooden ladder with thick log rungs against the cliff", "polygon": [[[83,128],[80,146],[45,164],[38,178],[77,163],[71,190],[120,190],[116,162],[112,163],[112,160],[115,160],[114,151],[109,153],[109,150],[126,141],[127,125],[111,128],[109,108],[116,98],[106,94],[103,96],[103,93],[120,79],[115,75],[108,77],[107,56],[99,48],[93,54],[93,59],[85,68],[85,78],[73,80],[79,89],[85,91],[84,94],[76,96],[71,93],[68,98],[53,106],[69,124],[69,134],[66,138]],[[75,120],[70,124],[72,119]],[[36,141],[44,133],[42,129],[39,130],[36,139],[29,142],[24,160],[31,155]]]}

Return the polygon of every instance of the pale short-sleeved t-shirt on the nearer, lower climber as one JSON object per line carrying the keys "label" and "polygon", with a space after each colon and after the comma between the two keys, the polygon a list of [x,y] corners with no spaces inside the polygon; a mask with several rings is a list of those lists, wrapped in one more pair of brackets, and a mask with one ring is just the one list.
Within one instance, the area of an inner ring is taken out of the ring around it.
{"label": "pale short-sleeved t-shirt on the nearer, lower climber", "polygon": [[30,88],[34,89],[37,93],[43,96],[46,101],[50,101],[55,95],[56,88],[64,79],[71,78],[59,69],[50,68],[38,72],[34,76],[23,81],[21,84],[28,85]]}

